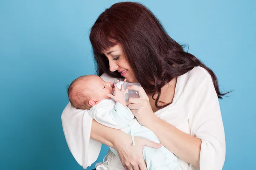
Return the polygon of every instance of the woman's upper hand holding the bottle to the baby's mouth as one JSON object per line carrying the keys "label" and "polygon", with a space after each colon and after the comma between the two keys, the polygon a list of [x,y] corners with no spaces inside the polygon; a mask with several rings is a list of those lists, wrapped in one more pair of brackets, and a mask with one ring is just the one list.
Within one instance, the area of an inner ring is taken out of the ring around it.
{"label": "woman's upper hand holding the bottle to the baby's mouth", "polygon": [[157,119],[157,116],[151,109],[148,96],[144,89],[138,85],[131,85],[127,87],[127,89],[137,91],[140,95],[140,98],[131,97],[126,101],[128,108],[137,118],[140,125],[145,127],[152,125],[152,123]]}

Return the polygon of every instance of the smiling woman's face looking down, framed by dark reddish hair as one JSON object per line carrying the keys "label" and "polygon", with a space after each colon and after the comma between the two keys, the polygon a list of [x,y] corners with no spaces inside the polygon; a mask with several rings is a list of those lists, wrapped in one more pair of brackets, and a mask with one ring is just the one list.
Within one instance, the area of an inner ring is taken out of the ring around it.
{"label": "smiling woman's face looking down, framed by dark reddish hair", "polygon": [[108,58],[110,71],[114,72],[117,70],[122,77],[127,79],[127,82],[138,82],[120,45],[117,44],[108,50],[103,51],[103,54]]}

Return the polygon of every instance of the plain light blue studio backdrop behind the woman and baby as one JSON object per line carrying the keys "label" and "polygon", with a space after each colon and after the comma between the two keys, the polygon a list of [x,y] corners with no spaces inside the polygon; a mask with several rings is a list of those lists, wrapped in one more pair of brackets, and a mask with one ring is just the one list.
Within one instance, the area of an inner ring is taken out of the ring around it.
{"label": "plain light blue studio backdrop behind the woman and baby", "polygon": [[[66,85],[95,74],[89,29],[116,2],[0,1],[1,170],[82,170],[61,125]],[[222,90],[234,90],[220,100],[227,142],[223,169],[255,167],[256,1],[139,2],[212,68]]]}

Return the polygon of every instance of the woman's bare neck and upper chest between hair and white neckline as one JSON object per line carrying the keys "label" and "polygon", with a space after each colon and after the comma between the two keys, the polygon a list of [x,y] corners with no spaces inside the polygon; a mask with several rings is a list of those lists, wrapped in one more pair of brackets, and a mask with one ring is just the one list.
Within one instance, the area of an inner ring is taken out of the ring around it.
{"label": "woman's bare neck and upper chest between hair and white neckline", "polygon": [[[172,79],[172,81],[170,81],[169,83],[167,83],[166,85],[164,85],[161,88],[160,98],[157,102],[158,106],[163,106],[163,105],[166,105],[168,103],[172,103],[172,100],[173,100],[174,94],[175,94],[176,83],[177,83],[177,77]],[[154,99],[157,98],[157,95],[158,94],[154,95]],[[152,99],[152,95],[148,95],[148,98],[149,98],[149,103],[151,105],[152,111],[156,112],[156,111],[160,110],[159,108],[157,108],[155,106],[155,100]]]}

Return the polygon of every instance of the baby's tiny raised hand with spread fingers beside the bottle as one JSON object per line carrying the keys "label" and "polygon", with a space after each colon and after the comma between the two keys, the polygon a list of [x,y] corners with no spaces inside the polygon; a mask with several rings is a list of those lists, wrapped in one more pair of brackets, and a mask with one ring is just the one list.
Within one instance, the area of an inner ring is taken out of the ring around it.
{"label": "baby's tiny raised hand with spread fingers beside the bottle", "polygon": [[121,90],[116,86],[114,83],[114,90],[115,90],[115,95],[108,94],[108,97],[111,97],[114,99],[116,102],[121,103],[125,108],[126,108],[126,102],[125,102],[125,94],[127,93],[128,89],[124,90],[124,85],[121,85]]}

